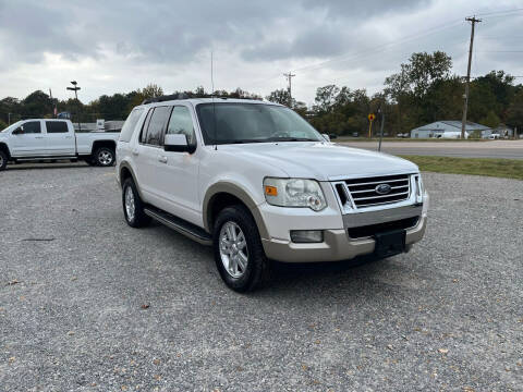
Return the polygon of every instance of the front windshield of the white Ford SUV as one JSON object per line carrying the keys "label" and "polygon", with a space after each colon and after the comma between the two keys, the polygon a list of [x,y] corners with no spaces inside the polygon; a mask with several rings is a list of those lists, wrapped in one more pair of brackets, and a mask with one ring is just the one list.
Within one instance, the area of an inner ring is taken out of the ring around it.
{"label": "front windshield of the white Ford SUV", "polygon": [[321,135],[296,112],[276,105],[200,103],[196,111],[207,145],[325,142]]}

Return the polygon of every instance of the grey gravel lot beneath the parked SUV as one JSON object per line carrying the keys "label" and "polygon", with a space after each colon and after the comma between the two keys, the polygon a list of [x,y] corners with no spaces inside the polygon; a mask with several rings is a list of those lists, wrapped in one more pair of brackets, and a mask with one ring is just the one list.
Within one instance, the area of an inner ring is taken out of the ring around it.
{"label": "grey gravel lot beneath the parked SUV", "polygon": [[11,168],[0,391],[523,390],[523,182],[426,173],[410,254],[240,295],[210,248],[129,228],[112,169]]}

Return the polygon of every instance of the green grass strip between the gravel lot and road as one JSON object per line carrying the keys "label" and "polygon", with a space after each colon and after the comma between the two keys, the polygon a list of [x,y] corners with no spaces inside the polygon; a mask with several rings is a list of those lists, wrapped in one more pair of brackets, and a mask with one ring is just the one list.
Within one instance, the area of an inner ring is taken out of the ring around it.
{"label": "green grass strip between the gravel lot and road", "polygon": [[523,180],[523,159],[401,156],[422,171]]}

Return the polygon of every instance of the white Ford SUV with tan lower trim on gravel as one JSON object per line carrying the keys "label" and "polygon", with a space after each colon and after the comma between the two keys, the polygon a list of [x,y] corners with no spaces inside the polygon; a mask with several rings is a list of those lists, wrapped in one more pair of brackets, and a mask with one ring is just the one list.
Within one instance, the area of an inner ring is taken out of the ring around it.
{"label": "white Ford SUV with tan lower trim on gravel", "polygon": [[146,100],[117,146],[125,220],[151,218],[206,245],[233,290],[269,260],[388,257],[422,240],[428,196],[418,168],[337,146],[294,111],[224,98]]}

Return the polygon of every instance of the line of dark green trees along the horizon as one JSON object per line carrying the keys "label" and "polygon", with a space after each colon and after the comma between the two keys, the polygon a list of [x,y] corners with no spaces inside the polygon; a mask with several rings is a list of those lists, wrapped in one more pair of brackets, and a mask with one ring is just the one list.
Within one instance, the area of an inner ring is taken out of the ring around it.
{"label": "line of dark green trees along the horizon", "polygon": [[[203,87],[184,93],[187,97],[210,97]],[[335,84],[318,87],[315,101],[307,107],[290,99],[284,88],[265,99],[292,107],[318,131],[338,135],[366,135],[368,113],[385,114],[385,132],[389,135],[438,120],[461,120],[464,79],[452,73],[452,59],[442,51],[413,53],[397,73],[385,79],[384,89],[369,96],[365,89],[350,89]],[[124,120],[131,109],[144,99],[163,95],[161,87],[150,84],[127,94],[102,95],[84,105],[80,100],[51,100],[41,90],[24,99],[7,97],[0,100],[0,128],[20,119],[52,118],[53,109],[70,112],[73,121],[95,122],[96,119]],[[260,95],[236,88],[217,90],[215,96],[264,99]],[[8,114],[11,113],[11,114]],[[10,118],[10,119],[9,119]],[[378,117],[378,125],[379,125]],[[503,71],[491,71],[471,81],[469,121],[490,127],[506,124],[523,130],[523,85]],[[378,126],[375,126],[377,130]]]}

